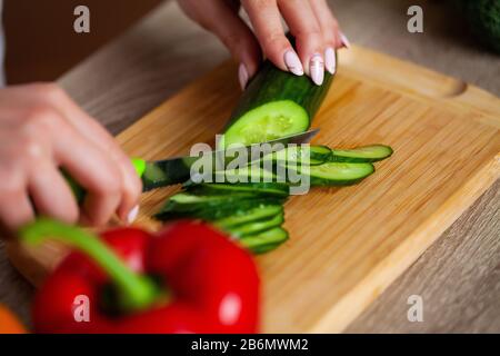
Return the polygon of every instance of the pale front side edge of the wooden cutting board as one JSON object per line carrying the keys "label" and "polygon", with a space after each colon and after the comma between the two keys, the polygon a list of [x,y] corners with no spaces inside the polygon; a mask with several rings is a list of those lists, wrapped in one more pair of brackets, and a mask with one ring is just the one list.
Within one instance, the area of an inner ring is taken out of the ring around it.
{"label": "pale front side edge of the wooden cutting board", "polygon": [[[358,286],[343,295],[308,333],[342,333],[498,179],[500,152],[458,189],[418,230],[380,261]],[[457,204],[460,204],[460,209],[456,208]],[[411,256],[409,251],[412,253]],[[390,265],[394,261],[396,266]],[[354,299],[358,303],[353,303]],[[352,309],[352,306],[358,308]]]}

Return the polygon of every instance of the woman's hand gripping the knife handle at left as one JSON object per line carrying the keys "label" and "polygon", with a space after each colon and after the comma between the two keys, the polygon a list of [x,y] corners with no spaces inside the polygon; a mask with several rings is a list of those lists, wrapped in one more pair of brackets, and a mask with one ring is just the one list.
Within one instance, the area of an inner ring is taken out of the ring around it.
{"label": "woman's hand gripping the knife handle at left", "polygon": [[[87,189],[79,207],[60,168]],[[56,85],[0,89],[0,222],[37,214],[103,225],[137,215],[141,181],[113,138]]]}

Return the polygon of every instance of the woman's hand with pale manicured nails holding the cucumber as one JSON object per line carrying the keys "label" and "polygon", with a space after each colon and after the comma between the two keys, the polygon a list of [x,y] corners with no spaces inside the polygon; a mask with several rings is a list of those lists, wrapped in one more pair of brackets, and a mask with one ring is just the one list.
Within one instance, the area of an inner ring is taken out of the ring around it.
{"label": "woman's hand with pale manicured nails holding the cucumber", "polygon": [[[241,0],[253,27],[239,17],[237,0],[179,0],[194,21],[216,33],[240,62],[244,88],[263,55],[278,68],[297,76],[304,72],[323,82],[324,69],[334,73],[334,49],[349,47],[326,0]],[[297,39],[297,52],[284,36],[281,19]],[[260,46],[259,46],[260,44]]]}

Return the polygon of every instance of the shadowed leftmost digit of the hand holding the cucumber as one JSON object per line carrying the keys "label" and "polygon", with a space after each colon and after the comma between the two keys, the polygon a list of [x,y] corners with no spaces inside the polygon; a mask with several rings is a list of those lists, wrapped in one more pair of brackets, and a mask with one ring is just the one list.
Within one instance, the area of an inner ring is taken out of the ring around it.
{"label": "shadowed leftmost digit of the hand holding the cucumber", "polygon": [[244,89],[248,80],[259,69],[262,60],[259,42],[247,23],[234,11],[234,2],[206,0],[210,6],[194,7],[187,2],[184,10],[189,12],[197,22],[213,32],[229,49],[232,57],[240,63],[239,80]]}

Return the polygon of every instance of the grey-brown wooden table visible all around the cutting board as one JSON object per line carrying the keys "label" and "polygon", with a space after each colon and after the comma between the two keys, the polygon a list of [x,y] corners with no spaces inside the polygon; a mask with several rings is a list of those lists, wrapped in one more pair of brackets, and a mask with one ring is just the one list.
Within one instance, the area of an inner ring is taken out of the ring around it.
{"label": "grey-brown wooden table visible all around the cutting board", "polygon": [[[383,6],[368,0],[332,2],[354,42],[500,92],[499,58],[463,36],[459,41],[451,38],[453,31],[441,18],[448,16],[443,4],[420,1],[428,19],[426,32],[410,34],[406,31],[407,1],[387,0]],[[118,134],[227,57],[214,38],[192,26],[176,4],[166,3],[59,83]],[[348,332],[500,332],[499,187],[499,182],[492,186]],[[423,323],[408,322],[411,295],[423,298]],[[0,248],[0,301],[29,320],[31,296],[32,288]]]}

